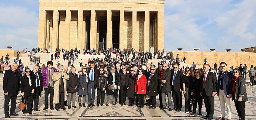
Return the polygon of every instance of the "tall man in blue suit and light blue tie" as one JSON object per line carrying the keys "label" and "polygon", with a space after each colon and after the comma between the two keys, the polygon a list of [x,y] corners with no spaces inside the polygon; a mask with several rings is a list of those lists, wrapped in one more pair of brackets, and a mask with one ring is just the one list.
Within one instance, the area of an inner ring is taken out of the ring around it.
{"label": "tall man in blue suit and light blue tie", "polygon": [[90,62],[90,68],[87,71],[89,75],[88,79],[88,107],[94,107],[95,100],[95,87],[94,80],[98,78],[99,70],[95,67],[95,63],[93,61]]}

